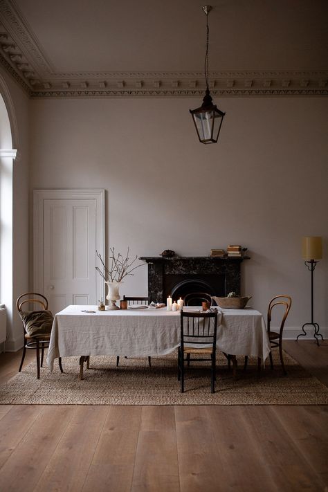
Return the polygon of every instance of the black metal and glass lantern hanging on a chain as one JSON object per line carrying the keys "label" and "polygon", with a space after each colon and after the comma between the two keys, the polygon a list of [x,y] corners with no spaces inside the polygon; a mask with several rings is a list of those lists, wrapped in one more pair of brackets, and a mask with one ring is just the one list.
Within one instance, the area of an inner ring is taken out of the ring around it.
{"label": "black metal and glass lantern hanging on a chain", "polygon": [[224,115],[226,114],[223,111],[220,111],[215,104],[212,103],[210,89],[208,89],[208,40],[210,37],[208,14],[211,10],[212,7],[210,5],[203,7],[203,12],[206,14],[206,55],[204,64],[206,93],[201,107],[189,110],[201,143],[217,143],[222,121],[224,119]]}

